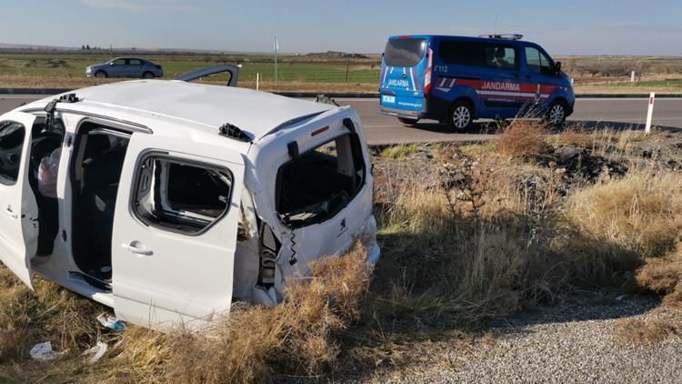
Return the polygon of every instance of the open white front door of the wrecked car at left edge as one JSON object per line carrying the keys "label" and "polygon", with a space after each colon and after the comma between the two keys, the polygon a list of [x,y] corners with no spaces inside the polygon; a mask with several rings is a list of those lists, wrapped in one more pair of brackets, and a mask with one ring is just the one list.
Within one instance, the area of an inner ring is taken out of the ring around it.
{"label": "open white front door of the wrecked car at left edge", "polygon": [[29,288],[31,258],[38,240],[38,209],[28,183],[31,129],[35,116],[0,116],[0,260]]}

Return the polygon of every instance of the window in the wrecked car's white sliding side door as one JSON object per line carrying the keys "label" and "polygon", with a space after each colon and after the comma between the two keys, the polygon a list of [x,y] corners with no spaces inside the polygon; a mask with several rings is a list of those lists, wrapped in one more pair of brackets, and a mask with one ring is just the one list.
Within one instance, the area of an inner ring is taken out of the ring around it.
{"label": "window in the wrecked car's white sliding side door", "polygon": [[232,180],[227,169],[146,155],[135,184],[135,216],[153,227],[199,234],[226,214]]}

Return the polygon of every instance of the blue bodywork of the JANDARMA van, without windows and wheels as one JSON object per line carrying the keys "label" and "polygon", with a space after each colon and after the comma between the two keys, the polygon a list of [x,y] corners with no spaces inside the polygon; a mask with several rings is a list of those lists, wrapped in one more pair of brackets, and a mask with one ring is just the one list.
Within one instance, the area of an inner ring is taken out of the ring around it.
{"label": "blue bodywork of the JANDARMA van, without windows and wheels", "polygon": [[[457,100],[467,100],[474,106],[475,118],[510,118],[528,111],[541,115],[559,98],[565,102],[569,113],[573,111],[575,95],[566,74],[540,75],[527,66],[527,46],[536,47],[547,55],[539,45],[502,38],[442,35],[392,36],[388,41],[409,39],[426,41],[426,53],[415,66],[409,67],[388,66],[386,57],[382,60],[379,91],[383,114],[446,121],[450,106]],[[473,64],[476,61],[452,64],[455,61],[446,61],[441,50],[442,43],[450,42],[506,47],[516,52],[516,62],[503,67],[485,66],[483,62]],[[432,55],[430,59],[429,55]],[[554,66],[554,62],[551,64]],[[397,84],[400,82],[396,74],[406,77],[403,84]],[[416,74],[416,79],[411,81],[411,76],[403,74]],[[418,81],[426,84],[421,90],[412,86]],[[388,100],[391,103],[387,103],[386,96],[395,96],[395,99],[391,98]],[[419,99],[424,102],[415,102]]]}

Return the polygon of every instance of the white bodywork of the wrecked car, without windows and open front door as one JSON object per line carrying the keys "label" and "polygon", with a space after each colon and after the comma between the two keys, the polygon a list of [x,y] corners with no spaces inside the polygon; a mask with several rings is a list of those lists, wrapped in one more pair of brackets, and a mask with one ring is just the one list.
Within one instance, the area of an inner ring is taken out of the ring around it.
{"label": "white bodywork of the wrecked car, without windows and open front door", "polygon": [[[367,244],[369,262],[379,257],[372,214],[371,158],[363,126],[352,107],[182,81],[129,81],[76,90],[75,94],[80,101],[56,104],[55,114],[65,122],[67,137],[77,135],[86,121],[130,134],[115,200],[112,290],[89,285],[74,261],[71,231],[75,217],[69,214],[74,207],[74,187],[67,169],[75,155],[68,145],[62,151],[57,180],[60,236],[55,238],[51,255],[32,260],[35,271],[45,278],[114,308],[120,318],[135,324],[200,327],[228,313],[233,298],[266,305],[283,300],[288,278],[306,276],[308,262],[345,252],[357,237],[371,239]],[[42,116],[53,99],[17,109]],[[346,120],[353,125],[346,125]],[[251,139],[222,135],[219,128],[228,122],[248,131]],[[328,129],[313,135],[321,126]],[[287,227],[275,208],[277,170],[291,159],[287,145],[296,141],[303,153],[348,134],[360,139],[365,184],[335,216],[307,227]],[[228,168],[234,185],[226,216],[199,236],[145,226],[131,214],[131,195],[137,160],[147,150]],[[240,222],[246,223],[250,239],[236,240]],[[281,243],[276,284],[270,291],[256,284],[258,223],[272,227]],[[131,245],[152,254],[138,256]],[[297,262],[292,264],[294,252]]]}

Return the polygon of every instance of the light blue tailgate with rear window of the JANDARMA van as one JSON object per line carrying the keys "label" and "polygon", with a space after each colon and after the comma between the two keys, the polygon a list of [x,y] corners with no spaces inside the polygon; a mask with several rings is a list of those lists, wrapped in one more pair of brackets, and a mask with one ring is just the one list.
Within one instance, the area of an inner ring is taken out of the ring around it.
{"label": "light blue tailgate with rear window of the JANDARMA van", "polygon": [[381,66],[381,108],[400,116],[414,116],[424,109],[426,39],[391,38]]}

